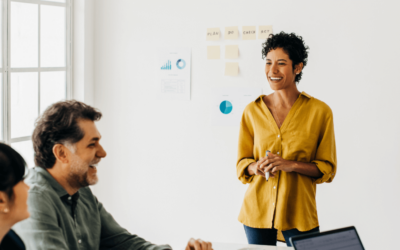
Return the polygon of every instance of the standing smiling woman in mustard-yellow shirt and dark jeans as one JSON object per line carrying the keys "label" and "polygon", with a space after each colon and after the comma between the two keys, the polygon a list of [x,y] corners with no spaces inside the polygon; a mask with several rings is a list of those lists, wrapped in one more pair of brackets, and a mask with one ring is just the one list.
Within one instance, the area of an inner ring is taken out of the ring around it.
{"label": "standing smiling woman in mustard-yellow shirt and dark jeans", "polygon": [[270,95],[245,108],[240,124],[237,176],[250,184],[239,221],[249,244],[319,232],[316,184],[336,174],[333,114],[324,102],[297,89],[309,48],[294,33],[263,44]]}

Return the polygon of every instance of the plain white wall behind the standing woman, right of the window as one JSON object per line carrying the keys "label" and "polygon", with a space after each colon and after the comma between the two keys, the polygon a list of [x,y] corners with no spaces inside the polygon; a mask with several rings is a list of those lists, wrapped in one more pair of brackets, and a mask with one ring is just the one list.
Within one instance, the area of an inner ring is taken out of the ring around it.
{"label": "plain white wall behind the standing woman, right of the window", "polygon": [[[208,27],[269,25],[310,46],[300,90],[334,112],[338,174],[318,186],[322,230],[355,225],[389,249],[400,224],[400,5],[396,1],[131,1],[94,4],[94,104],[108,152],[95,193],[131,232],[182,248],[245,243],[238,128],[209,125],[213,87],[268,89],[261,41],[238,41],[240,76],[206,60]],[[221,41],[217,44],[235,44]],[[156,98],[155,51],[192,48],[192,100]]]}

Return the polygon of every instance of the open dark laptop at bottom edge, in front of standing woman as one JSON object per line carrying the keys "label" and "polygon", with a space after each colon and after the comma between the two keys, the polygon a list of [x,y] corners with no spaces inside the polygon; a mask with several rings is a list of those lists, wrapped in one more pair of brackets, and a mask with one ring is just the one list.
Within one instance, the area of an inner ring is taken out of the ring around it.
{"label": "open dark laptop at bottom edge, in front of standing woman", "polygon": [[296,250],[365,250],[355,227],[290,238]]}

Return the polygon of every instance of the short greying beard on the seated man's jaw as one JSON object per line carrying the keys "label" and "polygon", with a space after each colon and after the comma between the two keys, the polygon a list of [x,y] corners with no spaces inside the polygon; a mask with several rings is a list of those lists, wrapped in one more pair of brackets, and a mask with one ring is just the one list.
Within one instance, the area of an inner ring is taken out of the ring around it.
{"label": "short greying beard on the seated man's jaw", "polygon": [[76,154],[72,154],[72,157],[71,168],[67,178],[69,185],[74,188],[82,188],[96,184],[98,181],[96,175],[88,177],[90,165],[94,164],[94,162],[87,164]]}

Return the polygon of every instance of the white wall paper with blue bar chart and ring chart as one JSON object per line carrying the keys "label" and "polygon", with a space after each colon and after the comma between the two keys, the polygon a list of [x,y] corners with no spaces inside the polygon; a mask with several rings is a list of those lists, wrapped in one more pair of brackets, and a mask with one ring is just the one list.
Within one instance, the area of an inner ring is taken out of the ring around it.
{"label": "white wall paper with blue bar chart and ring chart", "polygon": [[190,49],[158,49],[156,61],[158,97],[160,99],[190,100]]}

